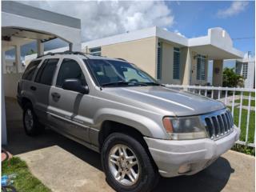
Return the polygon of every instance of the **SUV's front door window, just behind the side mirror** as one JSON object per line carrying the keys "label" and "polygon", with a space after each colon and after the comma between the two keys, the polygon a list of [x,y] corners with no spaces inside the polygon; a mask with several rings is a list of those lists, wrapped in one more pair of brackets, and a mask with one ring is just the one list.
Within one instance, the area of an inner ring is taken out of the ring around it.
{"label": "SUV's front door window, just behind the side mirror", "polygon": [[58,72],[56,86],[62,87],[63,82],[68,78],[78,78],[82,85],[86,85],[86,79],[78,62],[73,59],[63,59],[62,66]]}

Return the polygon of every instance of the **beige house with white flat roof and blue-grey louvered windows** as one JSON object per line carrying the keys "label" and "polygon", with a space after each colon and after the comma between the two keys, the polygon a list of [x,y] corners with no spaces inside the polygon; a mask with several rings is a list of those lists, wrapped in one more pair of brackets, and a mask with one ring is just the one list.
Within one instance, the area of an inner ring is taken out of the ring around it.
{"label": "beige house with white flat roof and blue-grey louvered windows", "polygon": [[151,27],[83,42],[82,51],[126,59],[162,83],[183,85],[206,85],[208,61],[213,60],[213,85],[222,86],[223,59],[243,57],[241,51],[234,49],[230,35],[219,27],[198,38]]}

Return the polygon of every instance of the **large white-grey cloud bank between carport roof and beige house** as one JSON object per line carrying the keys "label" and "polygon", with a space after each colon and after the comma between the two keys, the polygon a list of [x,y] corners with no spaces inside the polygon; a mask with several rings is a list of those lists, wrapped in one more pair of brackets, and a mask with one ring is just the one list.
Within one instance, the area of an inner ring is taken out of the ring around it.
{"label": "large white-grey cloud bank between carport roof and beige house", "polygon": [[150,26],[170,27],[174,15],[165,2],[22,2],[80,18],[82,40],[107,37]]}

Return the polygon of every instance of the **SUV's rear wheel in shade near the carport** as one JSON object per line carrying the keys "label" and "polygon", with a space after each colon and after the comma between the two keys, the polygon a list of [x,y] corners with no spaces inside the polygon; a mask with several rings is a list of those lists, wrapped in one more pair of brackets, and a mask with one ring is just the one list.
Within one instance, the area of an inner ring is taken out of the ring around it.
{"label": "SUV's rear wheel in shade near the carport", "polygon": [[44,126],[38,122],[38,117],[34,113],[33,106],[30,102],[26,103],[23,108],[23,126],[26,134],[29,136],[36,136],[44,130]]}

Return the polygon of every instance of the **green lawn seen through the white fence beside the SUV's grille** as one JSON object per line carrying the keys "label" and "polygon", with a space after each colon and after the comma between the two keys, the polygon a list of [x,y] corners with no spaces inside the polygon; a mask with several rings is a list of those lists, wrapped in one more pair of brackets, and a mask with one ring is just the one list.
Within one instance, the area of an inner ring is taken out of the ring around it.
{"label": "green lawn seen through the white fence beside the SUV's grille", "polygon": [[[230,110],[231,107],[229,106]],[[238,126],[239,121],[239,109],[234,108],[234,124]],[[246,122],[247,122],[247,110],[242,110],[241,116],[241,134],[240,140],[246,141]],[[254,130],[255,130],[255,111],[250,111],[250,123],[249,123],[249,135],[248,135],[248,142],[254,142]]]}

